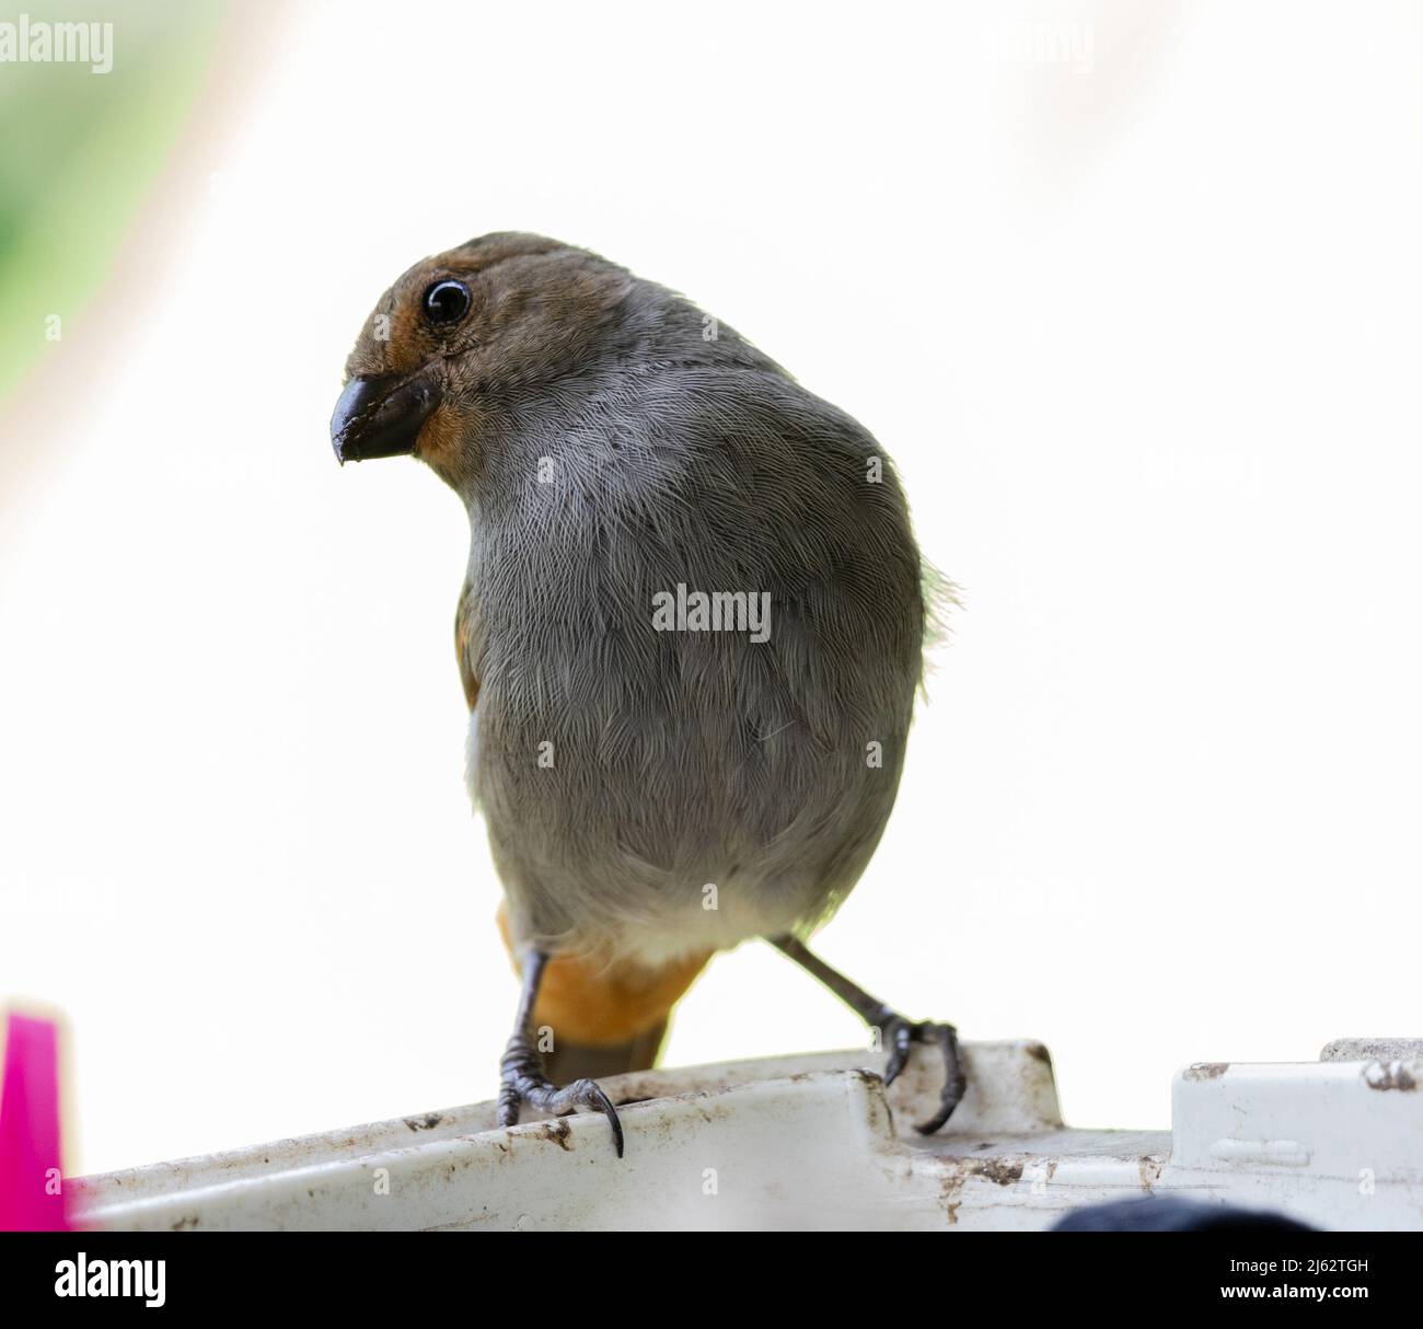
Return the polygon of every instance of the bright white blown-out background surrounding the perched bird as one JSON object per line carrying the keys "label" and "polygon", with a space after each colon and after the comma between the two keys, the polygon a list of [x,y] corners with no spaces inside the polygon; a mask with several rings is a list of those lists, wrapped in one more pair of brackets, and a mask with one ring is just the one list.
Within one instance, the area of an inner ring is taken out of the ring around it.
{"label": "bright white blown-out background surrounding the perched bird", "polygon": [[[1420,36],[1358,0],[239,7],[6,404],[0,996],[64,1013],[70,1168],[494,1091],[464,512],[326,434],[380,292],[492,229],[859,417],[963,588],[828,959],[1046,1040],[1076,1124],[1423,1032]],[[861,1036],[753,943],[666,1059]]]}

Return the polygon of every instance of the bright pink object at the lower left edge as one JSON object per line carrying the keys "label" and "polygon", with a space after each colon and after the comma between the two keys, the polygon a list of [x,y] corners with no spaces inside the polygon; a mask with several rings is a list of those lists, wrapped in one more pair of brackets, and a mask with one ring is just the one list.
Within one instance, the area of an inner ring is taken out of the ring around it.
{"label": "bright pink object at the lower left edge", "polygon": [[58,1032],[10,1015],[0,1093],[0,1231],[63,1232]]}

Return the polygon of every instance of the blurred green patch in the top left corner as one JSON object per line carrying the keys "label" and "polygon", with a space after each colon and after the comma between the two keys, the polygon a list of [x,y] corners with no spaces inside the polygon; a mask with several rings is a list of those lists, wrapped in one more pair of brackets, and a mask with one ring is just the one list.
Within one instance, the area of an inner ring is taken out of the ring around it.
{"label": "blurred green patch in the top left corner", "polygon": [[0,23],[108,23],[112,68],[0,63],[0,397],[104,280],[216,51],[223,0],[30,0]]}

